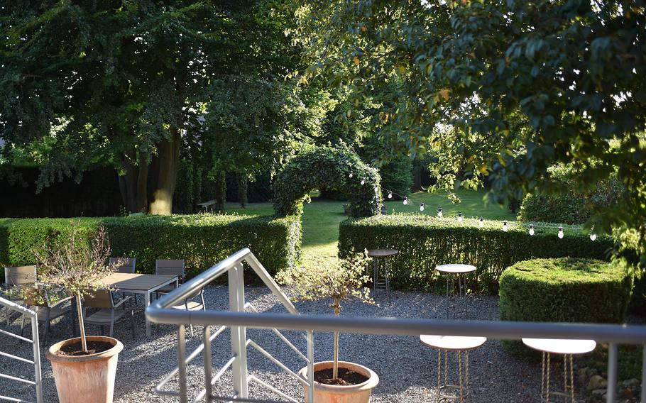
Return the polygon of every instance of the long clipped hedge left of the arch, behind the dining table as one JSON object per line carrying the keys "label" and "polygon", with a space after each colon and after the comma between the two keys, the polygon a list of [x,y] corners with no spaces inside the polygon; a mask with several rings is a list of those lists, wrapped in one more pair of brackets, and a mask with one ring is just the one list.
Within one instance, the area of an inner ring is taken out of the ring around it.
{"label": "long clipped hedge left of the arch, behind the dining table", "polygon": [[[34,263],[32,250],[53,240],[65,241],[77,219],[0,219],[0,265]],[[288,216],[131,216],[82,218],[90,236],[102,224],[113,256],[137,259],[137,272],[154,273],[156,259],[185,259],[195,275],[241,248],[251,248],[270,273],[300,259],[300,218]]]}

